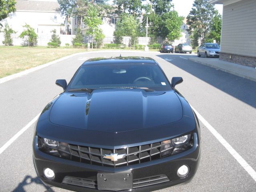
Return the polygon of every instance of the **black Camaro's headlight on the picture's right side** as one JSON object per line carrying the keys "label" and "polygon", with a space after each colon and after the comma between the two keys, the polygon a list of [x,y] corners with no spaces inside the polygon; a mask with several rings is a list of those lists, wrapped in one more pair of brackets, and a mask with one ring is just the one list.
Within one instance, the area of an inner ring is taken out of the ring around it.
{"label": "black Camaro's headlight on the picture's right side", "polygon": [[164,140],[161,143],[161,157],[177,154],[193,146],[192,134],[183,135],[174,139]]}

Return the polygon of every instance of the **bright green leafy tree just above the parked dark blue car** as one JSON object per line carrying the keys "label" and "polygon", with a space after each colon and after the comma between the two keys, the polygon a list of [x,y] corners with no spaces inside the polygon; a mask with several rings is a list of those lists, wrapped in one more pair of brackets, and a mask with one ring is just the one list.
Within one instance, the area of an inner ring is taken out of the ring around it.
{"label": "bright green leafy tree just above the parked dark blue car", "polygon": [[182,36],[180,26],[182,25],[183,17],[179,16],[178,12],[173,10],[163,14],[162,18],[164,18],[162,37],[166,37],[171,42],[179,39]]}

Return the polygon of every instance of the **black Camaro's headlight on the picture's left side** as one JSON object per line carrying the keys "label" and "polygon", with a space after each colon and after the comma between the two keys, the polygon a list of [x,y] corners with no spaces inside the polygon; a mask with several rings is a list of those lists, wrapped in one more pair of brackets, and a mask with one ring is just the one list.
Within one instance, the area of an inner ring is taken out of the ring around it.
{"label": "black Camaro's headlight on the picture's left side", "polygon": [[38,137],[38,148],[47,154],[70,159],[68,143]]}

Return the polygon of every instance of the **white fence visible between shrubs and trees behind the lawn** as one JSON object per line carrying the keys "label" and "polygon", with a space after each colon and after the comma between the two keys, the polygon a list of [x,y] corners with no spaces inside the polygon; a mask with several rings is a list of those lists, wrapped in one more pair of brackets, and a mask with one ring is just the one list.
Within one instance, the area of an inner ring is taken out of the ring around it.
{"label": "white fence visible between shrubs and trees behind the lawn", "polygon": [[[60,36],[60,41],[61,41],[61,46],[65,46],[66,43],[72,45],[72,40],[75,37],[75,35],[59,35]],[[19,37],[18,34],[12,34],[12,43],[13,45],[22,45],[24,40],[26,38],[22,39]],[[51,35],[38,35],[37,42],[39,46],[47,46],[47,43],[50,42],[50,39],[52,38]],[[123,37],[123,42],[122,44],[125,44],[128,46],[130,44],[130,37],[124,36]],[[4,34],[0,33],[0,45],[2,44],[2,41],[4,40]],[[84,42],[87,43],[88,41],[90,42],[90,38],[85,37]],[[148,42],[150,42],[150,38],[148,38]],[[103,39],[103,44],[109,44],[109,43],[114,43],[114,37],[105,37]],[[146,45],[146,37],[138,37],[138,44],[139,45]]]}

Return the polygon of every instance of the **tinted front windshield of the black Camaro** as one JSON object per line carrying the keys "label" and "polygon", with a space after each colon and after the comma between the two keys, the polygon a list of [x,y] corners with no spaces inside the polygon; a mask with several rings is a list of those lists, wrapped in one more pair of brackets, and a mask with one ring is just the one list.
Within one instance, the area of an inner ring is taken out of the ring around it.
{"label": "tinted front windshield of the black Camaro", "polygon": [[96,64],[82,66],[68,90],[106,88],[148,88],[170,90],[170,84],[156,64]]}

